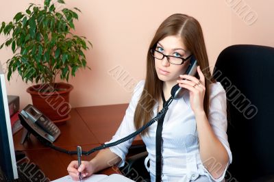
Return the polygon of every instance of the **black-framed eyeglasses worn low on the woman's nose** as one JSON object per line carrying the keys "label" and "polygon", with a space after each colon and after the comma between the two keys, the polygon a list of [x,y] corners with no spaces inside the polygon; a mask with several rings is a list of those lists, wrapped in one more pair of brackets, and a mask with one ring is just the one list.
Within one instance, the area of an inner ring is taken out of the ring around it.
{"label": "black-framed eyeglasses worn low on the woman's nose", "polygon": [[186,62],[186,60],[188,60],[192,56],[192,55],[189,55],[188,57],[184,58],[184,57],[177,57],[173,55],[164,55],[163,53],[156,51],[154,49],[151,49],[150,53],[157,60],[163,60],[164,57],[166,57],[167,61],[170,64],[176,64],[176,65],[184,64],[184,62]]}

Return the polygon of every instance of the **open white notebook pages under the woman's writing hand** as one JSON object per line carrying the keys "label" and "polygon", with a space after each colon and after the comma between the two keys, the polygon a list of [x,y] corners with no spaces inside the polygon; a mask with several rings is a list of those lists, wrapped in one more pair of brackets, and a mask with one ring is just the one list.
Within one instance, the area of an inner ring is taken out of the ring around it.
{"label": "open white notebook pages under the woman's writing hand", "polygon": [[[93,174],[90,177],[82,179],[82,182],[116,182],[116,181],[123,181],[123,182],[132,182],[131,179],[124,177],[121,174],[111,174],[110,176],[105,174]],[[73,179],[68,175],[66,177],[62,177],[60,179],[56,179],[53,182],[73,182]]]}

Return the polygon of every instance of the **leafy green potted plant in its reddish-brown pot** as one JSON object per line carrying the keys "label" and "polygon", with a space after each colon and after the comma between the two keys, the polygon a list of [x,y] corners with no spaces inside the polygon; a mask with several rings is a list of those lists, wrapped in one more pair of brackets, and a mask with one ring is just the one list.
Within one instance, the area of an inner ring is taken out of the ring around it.
{"label": "leafy green potted plant in its reddish-brown pot", "polygon": [[79,68],[86,65],[84,51],[92,47],[84,36],[71,32],[79,9],[62,7],[63,0],[45,0],[43,5],[29,4],[25,12],[18,12],[10,23],[2,22],[0,34],[7,39],[0,49],[11,47],[13,56],[7,60],[8,80],[18,72],[23,81],[36,85],[27,88],[32,102],[53,122],[70,118],[69,81]]}

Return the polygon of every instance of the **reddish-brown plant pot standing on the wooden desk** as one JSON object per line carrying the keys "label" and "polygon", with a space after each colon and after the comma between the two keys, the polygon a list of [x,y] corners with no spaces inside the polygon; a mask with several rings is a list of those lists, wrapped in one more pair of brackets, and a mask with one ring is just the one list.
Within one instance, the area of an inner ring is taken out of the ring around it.
{"label": "reddish-brown plant pot standing on the wooden desk", "polygon": [[27,88],[32,95],[34,107],[40,110],[55,124],[64,124],[71,116],[71,105],[69,104],[69,93],[73,86],[68,83],[55,83],[56,90],[49,85],[36,85]]}

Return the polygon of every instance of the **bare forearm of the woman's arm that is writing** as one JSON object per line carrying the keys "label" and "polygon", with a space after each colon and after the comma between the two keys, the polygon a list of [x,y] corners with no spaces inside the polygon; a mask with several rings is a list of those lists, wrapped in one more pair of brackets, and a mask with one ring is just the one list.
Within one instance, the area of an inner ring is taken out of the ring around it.
{"label": "bare forearm of the woman's arm that is writing", "polygon": [[115,153],[112,153],[112,151],[110,151],[110,148],[105,148],[99,151],[99,153],[90,160],[92,165],[95,167],[95,171],[93,173],[113,166],[119,161],[121,161],[121,158]]}

